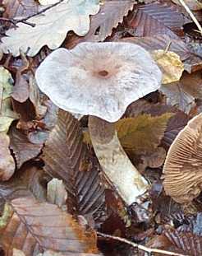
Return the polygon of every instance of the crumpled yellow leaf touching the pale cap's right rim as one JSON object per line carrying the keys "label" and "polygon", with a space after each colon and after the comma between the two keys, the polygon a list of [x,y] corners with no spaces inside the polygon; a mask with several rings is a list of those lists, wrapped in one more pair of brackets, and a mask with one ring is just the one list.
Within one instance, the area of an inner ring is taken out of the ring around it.
{"label": "crumpled yellow leaf touching the pale cap's right rim", "polygon": [[181,59],[177,54],[158,49],[152,52],[152,57],[163,72],[163,84],[180,80],[184,71],[184,65],[181,63]]}

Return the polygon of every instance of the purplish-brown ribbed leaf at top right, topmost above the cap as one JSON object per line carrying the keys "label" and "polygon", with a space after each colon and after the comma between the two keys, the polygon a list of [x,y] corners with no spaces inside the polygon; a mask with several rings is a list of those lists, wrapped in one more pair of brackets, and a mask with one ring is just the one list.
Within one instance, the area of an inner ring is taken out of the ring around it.
{"label": "purplish-brown ribbed leaf at top right, topmost above the cap", "polygon": [[178,38],[175,33],[182,34],[183,24],[182,14],[168,2],[144,5],[138,9],[135,16],[131,17],[131,21],[128,21],[128,26],[135,29],[136,36],[164,34],[172,39]]}

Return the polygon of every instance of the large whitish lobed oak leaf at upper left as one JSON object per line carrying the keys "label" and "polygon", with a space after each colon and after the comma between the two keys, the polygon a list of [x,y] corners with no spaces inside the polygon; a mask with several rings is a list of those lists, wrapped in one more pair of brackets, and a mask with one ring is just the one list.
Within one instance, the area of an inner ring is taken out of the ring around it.
{"label": "large whitish lobed oak leaf at upper left", "polygon": [[28,55],[34,56],[44,45],[56,49],[65,40],[69,30],[74,30],[77,35],[87,34],[90,28],[89,16],[97,12],[99,0],[61,2],[43,15],[30,18],[28,21],[34,27],[19,23],[17,28],[7,30],[0,49],[13,56],[18,56],[20,49],[24,53],[30,49]]}

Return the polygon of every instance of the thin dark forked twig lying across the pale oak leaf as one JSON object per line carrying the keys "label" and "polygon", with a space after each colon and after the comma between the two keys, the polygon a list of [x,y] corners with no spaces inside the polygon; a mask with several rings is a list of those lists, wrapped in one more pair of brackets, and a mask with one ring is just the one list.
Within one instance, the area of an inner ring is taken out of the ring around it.
{"label": "thin dark forked twig lying across the pale oak leaf", "polygon": [[51,6],[48,6],[48,7],[46,7],[46,8],[44,8],[44,9],[42,9],[41,11],[39,11],[39,12],[37,12],[37,13],[34,13],[34,14],[32,14],[32,15],[30,15],[30,16],[26,16],[25,18],[22,18],[22,19],[7,19],[7,18],[0,18],[0,21],[7,21],[7,22],[10,22],[11,24],[13,24],[14,26],[16,26],[17,25],[17,23],[25,23],[26,25],[29,25],[29,26],[35,26],[35,24],[34,23],[30,23],[29,21],[27,21],[27,20],[29,20],[30,18],[32,18],[32,17],[34,17],[34,16],[38,16],[39,14],[42,14],[42,13],[44,13],[44,12],[46,12],[46,11],[48,11],[49,9],[51,9],[51,8],[53,8],[53,7],[56,7],[59,3],[61,3],[61,2],[64,2],[64,0],[60,0],[59,2],[56,2],[56,3],[54,3],[54,4],[52,4]]}

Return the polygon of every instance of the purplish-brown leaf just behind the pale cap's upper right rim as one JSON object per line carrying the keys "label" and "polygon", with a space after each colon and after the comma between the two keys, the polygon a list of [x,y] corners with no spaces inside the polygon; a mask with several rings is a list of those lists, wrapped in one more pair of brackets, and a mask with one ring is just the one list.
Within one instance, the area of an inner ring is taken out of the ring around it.
{"label": "purplish-brown leaf just behind the pale cap's upper right rim", "polygon": [[168,35],[154,35],[146,37],[129,37],[123,39],[126,42],[139,44],[149,51],[157,49],[166,49],[170,44],[169,51],[178,54],[181,60],[190,57],[190,49],[182,40],[172,39]]}

